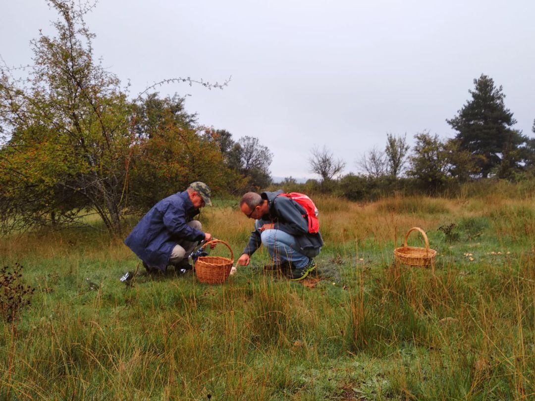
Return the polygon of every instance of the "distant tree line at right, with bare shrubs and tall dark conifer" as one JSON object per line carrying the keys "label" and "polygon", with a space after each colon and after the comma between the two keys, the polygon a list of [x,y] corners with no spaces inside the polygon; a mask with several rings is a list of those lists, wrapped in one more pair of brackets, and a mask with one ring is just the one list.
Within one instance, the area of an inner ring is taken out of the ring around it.
{"label": "distant tree line at right, with bare shrubs and tall dark conifer", "polygon": [[[363,199],[378,188],[411,185],[429,193],[451,184],[487,178],[518,181],[535,176],[535,139],[514,129],[516,120],[505,106],[505,94],[492,78],[482,74],[473,80],[471,99],[446,121],[456,131],[441,139],[429,131],[414,136],[387,134],[385,148],[373,148],[356,161],[358,174],[340,176],[345,162],[323,148],[311,150],[310,172],[320,181],[309,186],[327,192],[339,189],[351,199]],[[535,133],[535,121],[533,122]],[[336,178],[336,179],[334,179]],[[287,179],[286,182],[291,182]]]}

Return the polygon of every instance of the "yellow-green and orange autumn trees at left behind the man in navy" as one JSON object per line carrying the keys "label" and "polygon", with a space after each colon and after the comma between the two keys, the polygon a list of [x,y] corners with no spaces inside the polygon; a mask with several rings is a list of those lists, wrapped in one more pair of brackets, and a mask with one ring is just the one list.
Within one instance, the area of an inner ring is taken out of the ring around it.
{"label": "yellow-green and orange autumn trees at left behind the man in navy", "polygon": [[[128,98],[95,63],[73,1],[51,0],[56,36],[32,42],[25,74],[0,68],[0,228],[80,225],[96,213],[112,234],[124,215],[202,180],[224,190],[240,178],[221,163],[181,98]],[[204,86],[206,83],[201,82]]]}

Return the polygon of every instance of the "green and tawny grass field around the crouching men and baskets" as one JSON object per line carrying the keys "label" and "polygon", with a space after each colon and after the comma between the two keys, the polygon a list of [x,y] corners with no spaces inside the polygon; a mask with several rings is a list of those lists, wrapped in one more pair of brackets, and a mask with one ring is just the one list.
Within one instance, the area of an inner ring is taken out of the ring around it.
{"label": "green and tawny grass field around the crouching men and baskets", "polygon": [[[326,245],[308,286],[265,275],[262,250],[224,286],[172,273],[127,288],[121,241],[3,238],[2,266],[36,291],[0,322],[0,399],[535,398],[532,195],[315,201]],[[253,223],[237,203],[201,221],[237,259]],[[434,272],[393,263],[412,226]]]}

